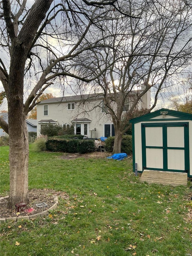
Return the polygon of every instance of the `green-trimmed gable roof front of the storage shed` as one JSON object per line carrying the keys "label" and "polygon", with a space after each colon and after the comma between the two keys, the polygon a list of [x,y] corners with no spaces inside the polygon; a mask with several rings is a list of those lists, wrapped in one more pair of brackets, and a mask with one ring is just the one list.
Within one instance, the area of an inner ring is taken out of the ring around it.
{"label": "green-trimmed gable roof front of the storage shed", "polygon": [[[171,116],[168,117],[168,119],[164,119],[164,120],[192,120],[192,114],[189,113],[184,113],[184,112],[180,112],[180,111],[176,111],[176,110],[170,110],[167,108],[162,108],[159,110],[156,110],[154,112],[151,112],[149,114],[143,115],[143,116],[139,116],[136,118],[131,119],[129,122],[130,123],[138,123],[138,122],[143,122],[143,121],[163,121],[163,119],[158,119],[158,116],[161,116],[163,113],[162,112],[168,112],[167,115]],[[155,119],[155,117],[157,117],[157,119]]]}

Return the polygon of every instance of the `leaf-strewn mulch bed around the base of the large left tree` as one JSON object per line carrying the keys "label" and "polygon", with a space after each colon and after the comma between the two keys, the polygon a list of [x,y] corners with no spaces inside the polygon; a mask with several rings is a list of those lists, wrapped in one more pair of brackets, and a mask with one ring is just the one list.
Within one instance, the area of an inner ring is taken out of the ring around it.
{"label": "leaf-strewn mulch bed around the base of the large left tree", "polygon": [[[45,210],[48,210],[54,203],[54,196],[58,196],[64,199],[68,199],[68,195],[65,192],[54,191],[50,189],[32,189],[29,190],[29,200],[30,203],[27,205],[27,209],[33,208],[34,210],[30,213],[25,211],[19,212],[17,214],[16,210],[7,209],[8,198],[0,200],[0,218],[10,218],[10,217],[21,217],[21,216],[30,216],[33,214],[41,213]],[[46,203],[47,206],[39,208],[36,204]]]}

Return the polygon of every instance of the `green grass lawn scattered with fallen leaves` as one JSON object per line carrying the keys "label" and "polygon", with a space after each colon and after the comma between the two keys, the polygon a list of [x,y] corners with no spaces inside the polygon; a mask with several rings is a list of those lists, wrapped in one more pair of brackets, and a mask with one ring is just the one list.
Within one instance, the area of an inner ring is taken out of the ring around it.
{"label": "green grass lawn scattered with fallen leaves", "polygon": [[[1,195],[7,195],[8,146],[0,149]],[[69,199],[60,198],[45,218],[1,224],[2,256],[191,255],[189,187],[140,183],[131,159],[61,155],[30,152],[29,189],[65,191]]]}

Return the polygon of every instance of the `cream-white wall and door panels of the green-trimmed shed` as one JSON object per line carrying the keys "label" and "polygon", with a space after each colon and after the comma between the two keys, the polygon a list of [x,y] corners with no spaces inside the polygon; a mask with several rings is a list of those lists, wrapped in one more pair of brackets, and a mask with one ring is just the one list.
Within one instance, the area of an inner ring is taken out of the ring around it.
{"label": "cream-white wall and door panels of the green-trimmed shed", "polygon": [[[156,111],[157,112],[157,111]],[[170,112],[177,112],[171,110]],[[152,113],[151,113],[152,114]],[[184,116],[189,115],[192,119],[192,115],[183,113]],[[150,114],[148,114],[150,115]],[[182,115],[182,114],[181,114]],[[147,116],[147,115],[146,115]],[[172,116],[167,114],[163,116],[162,114],[156,115],[155,117],[148,118],[147,120],[141,120],[139,118],[137,122],[134,122],[134,163],[137,163],[137,170],[143,172],[143,160],[142,160],[142,124],[146,125],[145,127],[145,139],[146,139],[146,166],[149,168],[159,168],[163,169],[163,137],[162,137],[162,126],[156,125],[150,126],[150,124],[167,124],[166,133],[167,133],[167,168],[170,170],[183,170],[185,171],[185,161],[189,162],[189,176],[192,177],[192,120],[184,119],[182,116]],[[186,141],[184,140],[184,127],[179,126],[180,123],[188,124],[189,134],[189,143],[187,146]],[[149,124],[149,125],[148,125]],[[170,124],[170,125],[169,125]],[[176,125],[172,125],[176,124]],[[173,127],[172,127],[173,126]],[[154,148],[147,148],[147,146]],[[160,148],[155,148],[155,146]],[[162,147],[162,149],[161,149]],[[189,157],[184,155],[184,147],[189,148]],[[173,149],[172,149],[173,148]],[[177,149],[174,149],[177,148]]]}

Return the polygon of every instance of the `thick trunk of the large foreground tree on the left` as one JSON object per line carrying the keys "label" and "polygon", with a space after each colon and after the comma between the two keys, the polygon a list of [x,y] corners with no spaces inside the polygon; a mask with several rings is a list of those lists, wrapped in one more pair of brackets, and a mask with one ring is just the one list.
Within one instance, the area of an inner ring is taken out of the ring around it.
{"label": "thick trunk of the large foreground tree on the left", "polygon": [[13,47],[8,89],[10,194],[8,208],[16,203],[29,203],[29,141],[26,113],[23,112],[23,80],[26,56],[22,44]]}

